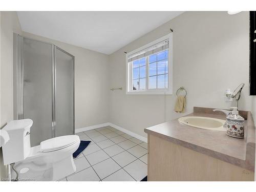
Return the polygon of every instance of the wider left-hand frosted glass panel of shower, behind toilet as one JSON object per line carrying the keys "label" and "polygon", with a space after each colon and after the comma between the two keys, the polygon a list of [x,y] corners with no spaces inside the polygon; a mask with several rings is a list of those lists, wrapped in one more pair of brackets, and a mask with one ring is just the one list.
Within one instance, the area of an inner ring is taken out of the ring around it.
{"label": "wider left-hand frosted glass panel of shower, behind toilet", "polygon": [[31,146],[52,138],[52,45],[23,39],[23,117],[32,119]]}

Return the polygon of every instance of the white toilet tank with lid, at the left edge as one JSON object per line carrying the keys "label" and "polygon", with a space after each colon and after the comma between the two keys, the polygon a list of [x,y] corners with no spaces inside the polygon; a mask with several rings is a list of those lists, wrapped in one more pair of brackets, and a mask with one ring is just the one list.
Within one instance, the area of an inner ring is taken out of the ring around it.
{"label": "white toilet tank with lid, at the left edge", "polygon": [[7,131],[10,140],[2,147],[4,164],[22,161],[30,153],[30,127],[31,119],[10,121],[3,130]]}

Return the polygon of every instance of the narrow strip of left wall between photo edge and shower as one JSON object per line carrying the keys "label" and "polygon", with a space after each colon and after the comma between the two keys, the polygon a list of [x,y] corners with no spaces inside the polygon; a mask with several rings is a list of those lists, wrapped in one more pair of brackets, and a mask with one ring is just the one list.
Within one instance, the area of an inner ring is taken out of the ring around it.
{"label": "narrow strip of left wall between photo edge and shower", "polygon": [[[13,119],[12,102],[12,45],[13,32],[20,33],[21,28],[16,12],[1,12],[1,115],[0,129]],[[0,178],[7,177],[7,166],[3,165],[0,150]]]}

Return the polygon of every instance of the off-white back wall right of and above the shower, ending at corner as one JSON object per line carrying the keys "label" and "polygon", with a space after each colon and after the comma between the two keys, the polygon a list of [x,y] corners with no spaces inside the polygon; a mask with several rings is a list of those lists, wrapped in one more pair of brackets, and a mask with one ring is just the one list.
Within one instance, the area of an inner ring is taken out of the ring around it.
{"label": "off-white back wall right of and above the shower, ending at corner", "polygon": [[51,42],[75,56],[76,129],[108,122],[109,56],[31,33],[22,35]]}

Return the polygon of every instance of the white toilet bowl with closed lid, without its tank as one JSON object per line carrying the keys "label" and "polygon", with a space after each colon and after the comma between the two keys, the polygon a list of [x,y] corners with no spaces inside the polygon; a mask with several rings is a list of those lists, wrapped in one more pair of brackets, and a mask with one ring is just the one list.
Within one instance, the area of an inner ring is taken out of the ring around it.
{"label": "white toilet bowl with closed lid, without its tank", "polygon": [[[42,146],[47,148],[42,150]],[[31,147],[29,156],[15,163],[19,180],[57,181],[76,172],[72,154],[77,150],[80,139],[77,135],[60,136],[42,141]],[[24,170],[27,172],[23,173]],[[48,173],[48,174],[45,174]]]}

